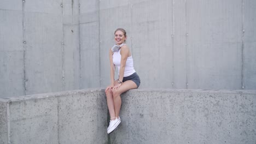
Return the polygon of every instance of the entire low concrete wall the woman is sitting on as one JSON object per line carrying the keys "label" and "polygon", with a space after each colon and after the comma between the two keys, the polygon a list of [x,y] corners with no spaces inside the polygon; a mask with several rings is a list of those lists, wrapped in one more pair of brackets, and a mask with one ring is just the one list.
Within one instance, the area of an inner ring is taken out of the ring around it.
{"label": "entire low concrete wall the woman is sitting on", "polygon": [[135,89],[107,135],[103,89],[0,99],[0,143],[256,142],[256,91]]}

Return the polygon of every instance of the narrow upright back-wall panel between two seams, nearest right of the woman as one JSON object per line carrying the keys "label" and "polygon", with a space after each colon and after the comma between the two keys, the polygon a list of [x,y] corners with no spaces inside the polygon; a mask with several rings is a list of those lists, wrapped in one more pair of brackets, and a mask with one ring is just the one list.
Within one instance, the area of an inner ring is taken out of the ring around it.
{"label": "narrow upright back-wall panel between two seams, nearest right of the woman", "polygon": [[185,0],[174,1],[173,4],[173,83],[172,88],[186,88],[187,62],[186,62],[186,5]]}

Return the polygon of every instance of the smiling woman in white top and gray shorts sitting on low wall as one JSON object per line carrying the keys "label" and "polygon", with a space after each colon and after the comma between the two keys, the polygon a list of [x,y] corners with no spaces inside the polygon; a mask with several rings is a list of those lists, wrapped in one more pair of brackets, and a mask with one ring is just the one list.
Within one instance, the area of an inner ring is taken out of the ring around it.
{"label": "smiling woman in white top and gray shorts sitting on low wall", "polygon": [[[118,28],[114,32],[115,44],[109,50],[110,61],[110,85],[105,89],[107,96],[108,111],[110,115],[107,133],[111,133],[119,123],[121,118],[119,112],[121,108],[120,94],[139,87],[141,80],[133,68],[133,59],[129,47],[125,44],[126,31]],[[118,67],[119,78],[114,80],[115,66]]]}

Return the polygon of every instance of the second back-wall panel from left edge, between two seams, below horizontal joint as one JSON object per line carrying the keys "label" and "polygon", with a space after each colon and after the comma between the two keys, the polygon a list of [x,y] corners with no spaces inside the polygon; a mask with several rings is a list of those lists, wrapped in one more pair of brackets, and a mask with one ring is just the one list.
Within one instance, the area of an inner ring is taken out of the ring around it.
{"label": "second back-wall panel from left edge, between two seams, below horizontal joint", "polygon": [[26,93],[62,91],[62,16],[26,13]]}

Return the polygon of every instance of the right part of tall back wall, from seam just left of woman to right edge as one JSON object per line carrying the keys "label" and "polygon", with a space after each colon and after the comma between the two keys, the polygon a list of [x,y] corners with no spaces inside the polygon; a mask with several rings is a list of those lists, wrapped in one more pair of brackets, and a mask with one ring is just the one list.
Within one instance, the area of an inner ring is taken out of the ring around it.
{"label": "right part of tall back wall, from seam just left of woman to right edge", "polygon": [[141,87],[255,89],[256,1],[101,1],[101,85],[113,29],[127,30]]}

